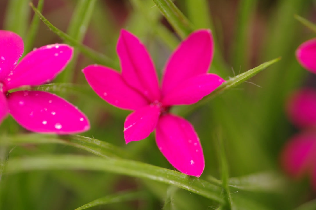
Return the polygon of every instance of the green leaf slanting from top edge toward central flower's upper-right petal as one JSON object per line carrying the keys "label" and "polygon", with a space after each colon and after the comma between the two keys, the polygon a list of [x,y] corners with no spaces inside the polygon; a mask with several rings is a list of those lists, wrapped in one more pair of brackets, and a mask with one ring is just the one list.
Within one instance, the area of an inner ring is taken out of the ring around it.
{"label": "green leaf slanting from top edge toward central flower's upper-right petal", "polygon": [[182,39],[185,39],[192,31],[193,27],[190,21],[174,5],[171,0],[153,0],[160,9],[162,15],[171,24],[173,29]]}

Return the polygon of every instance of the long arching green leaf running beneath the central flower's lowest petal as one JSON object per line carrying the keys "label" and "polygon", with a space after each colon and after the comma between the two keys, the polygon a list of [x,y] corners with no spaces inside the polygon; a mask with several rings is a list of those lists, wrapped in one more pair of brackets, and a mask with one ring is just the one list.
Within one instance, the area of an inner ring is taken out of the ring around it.
{"label": "long arching green leaf running beneath the central flower's lowest petal", "polygon": [[[5,173],[34,170],[89,170],[106,171],[131,177],[167,183],[222,203],[221,188],[183,173],[146,163],[125,159],[104,159],[81,155],[47,155],[10,158]],[[194,181],[195,180],[195,181]]]}

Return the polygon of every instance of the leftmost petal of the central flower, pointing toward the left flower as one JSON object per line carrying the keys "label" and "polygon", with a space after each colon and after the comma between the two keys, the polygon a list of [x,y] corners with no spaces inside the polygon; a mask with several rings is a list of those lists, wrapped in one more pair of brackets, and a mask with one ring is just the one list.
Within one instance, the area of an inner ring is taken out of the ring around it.
{"label": "leftmost petal of the central flower, pointing toward the left flower", "polygon": [[122,109],[136,110],[149,102],[125,83],[118,72],[105,66],[90,65],[82,69],[89,85],[103,100]]}

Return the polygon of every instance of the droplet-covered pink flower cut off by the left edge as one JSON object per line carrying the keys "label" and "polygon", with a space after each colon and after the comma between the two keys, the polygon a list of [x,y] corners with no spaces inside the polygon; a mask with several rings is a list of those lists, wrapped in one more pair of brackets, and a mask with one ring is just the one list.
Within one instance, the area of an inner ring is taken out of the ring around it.
{"label": "droplet-covered pink flower cut off by the left edge", "polygon": [[64,99],[43,91],[8,92],[52,80],[70,61],[73,49],[46,45],[23,53],[21,37],[0,30],[0,123],[9,114],[24,128],[40,133],[72,134],[90,128],[87,117]]}

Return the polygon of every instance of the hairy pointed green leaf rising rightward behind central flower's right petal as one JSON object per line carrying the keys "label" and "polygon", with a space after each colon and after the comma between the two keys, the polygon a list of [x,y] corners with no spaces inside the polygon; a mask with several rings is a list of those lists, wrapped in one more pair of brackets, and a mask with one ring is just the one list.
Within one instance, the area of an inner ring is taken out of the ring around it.
{"label": "hairy pointed green leaf rising rightward behind central flower's right petal", "polygon": [[191,111],[193,111],[194,109],[196,109],[197,107],[204,105],[205,103],[207,103],[211,98],[213,98],[214,96],[231,89],[232,87],[235,87],[239,84],[241,84],[242,82],[250,79],[251,77],[253,77],[254,75],[258,74],[260,71],[266,69],[267,67],[269,67],[270,65],[272,65],[273,63],[276,63],[280,60],[281,58],[275,58],[273,60],[267,61],[265,63],[262,63],[261,65],[250,69],[244,73],[241,73],[239,75],[236,75],[232,78],[230,78],[228,81],[224,82],[221,86],[219,86],[215,91],[213,91],[212,93],[210,93],[208,96],[206,96],[204,99],[200,100],[198,103],[194,104],[194,105],[190,105],[189,107],[186,107],[186,110],[183,111],[183,113],[181,113],[181,115],[187,115],[188,113],[190,113]]}

